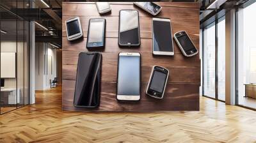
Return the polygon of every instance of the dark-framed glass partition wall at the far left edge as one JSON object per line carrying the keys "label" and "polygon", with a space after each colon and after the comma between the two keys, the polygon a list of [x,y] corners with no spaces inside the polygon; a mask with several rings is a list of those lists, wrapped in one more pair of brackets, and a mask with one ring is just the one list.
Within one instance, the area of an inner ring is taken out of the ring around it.
{"label": "dark-framed glass partition wall at the far left edge", "polygon": [[10,8],[0,7],[0,114],[29,103],[29,22],[13,13],[28,5],[25,1],[9,2],[0,2],[11,4]]}

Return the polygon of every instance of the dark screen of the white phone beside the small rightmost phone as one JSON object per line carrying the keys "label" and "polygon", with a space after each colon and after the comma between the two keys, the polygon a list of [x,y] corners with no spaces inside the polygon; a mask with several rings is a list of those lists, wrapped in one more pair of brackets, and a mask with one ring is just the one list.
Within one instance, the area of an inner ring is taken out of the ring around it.
{"label": "dark screen of the white phone beside the small rightmost phone", "polygon": [[173,52],[171,23],[153,20],[154,51]]}

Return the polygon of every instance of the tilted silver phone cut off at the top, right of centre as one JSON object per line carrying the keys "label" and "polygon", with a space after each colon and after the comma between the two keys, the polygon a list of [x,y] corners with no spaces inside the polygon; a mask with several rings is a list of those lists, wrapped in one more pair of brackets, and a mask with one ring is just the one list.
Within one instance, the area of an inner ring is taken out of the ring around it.
{"label": "tilted silver phone cut off at the top, right of centre", "polygon": [[134,2],[134,4],[152,15],[157,15],[162,10],[162,7],[154,2]]}

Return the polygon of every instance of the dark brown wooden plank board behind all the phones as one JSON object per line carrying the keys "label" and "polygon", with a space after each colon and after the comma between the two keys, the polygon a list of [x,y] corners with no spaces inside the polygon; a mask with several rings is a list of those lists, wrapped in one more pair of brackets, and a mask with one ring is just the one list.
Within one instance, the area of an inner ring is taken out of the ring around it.
{"label": "dark brown wooden plank board behind all the phones", "polygon": [[[158,2],[163,9],[156,17],[168,17],[172,21],[172,32],[185,30],[199,49],[199,5],[198,3]],[[150,112],[155,110],[199,110],[200,59],[199,54],[184,57],[177,43],[173,41],[175,55],[152,56],[152,16],[129,2],[111,2],[111,13],[99,15],[94,3],[63,2],[62,17],[62,74],[63,110],[88,110],[73,106],[76,68],[79,52],[86,49],[88,22],[91,18],[106,19],[106,47],[102,50],[102,84],[99,109],[97,111]],[[137,49],[118,47],[119,10],[135,9],[140,15],[141,46]],[[79,16],[84,38],[68,41],[65,20]],[[118,102],[116,100],[116,72],[118,52],[141,53],[141,100],[140,102]],[[150,98],[145,94],[152,66],[164,66],[170,70],[163,100]]]}

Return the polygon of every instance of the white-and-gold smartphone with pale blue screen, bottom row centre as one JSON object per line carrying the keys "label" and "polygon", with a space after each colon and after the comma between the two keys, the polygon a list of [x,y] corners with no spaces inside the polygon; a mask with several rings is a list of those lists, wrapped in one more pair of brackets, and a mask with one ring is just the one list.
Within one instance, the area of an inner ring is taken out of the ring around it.
{"label": "white-and-gold smartphone with pale blue screen, bottom row centre", "polygon": [[117,100],[140,100],[140,53],[118,55]]}

